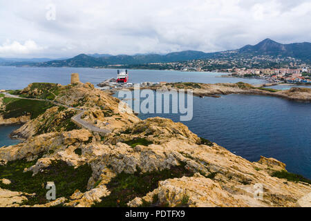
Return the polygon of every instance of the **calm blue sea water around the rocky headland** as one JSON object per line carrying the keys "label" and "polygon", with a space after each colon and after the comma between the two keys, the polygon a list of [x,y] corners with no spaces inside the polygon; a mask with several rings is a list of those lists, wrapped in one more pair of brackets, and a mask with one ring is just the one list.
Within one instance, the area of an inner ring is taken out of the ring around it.
{"label": "calm blue sea water around the rocky headland", "polygon": [[[91,68],[15,68],[0,67],[0,89],[21,89],[32,82],[69,84],[70,74],[79,73],[83,82],[98,84],[115,77],[115,69]],[[160,70],[129,70],[130,81],[192,81],[225,83],[244,81],[259,84],[258,79],[220,77],[221,73],[188,73]],[[178,122],[178,115],[140,115],[168,117]],[[261,155],[287,164],[288,171],[311,178],[311,104],[291,102],[276,97],[226,95],[220,98],[194,97],[194,118],[182,122],[200,137],[225,146],[250,161]],[[8,134],[16,126],[0,127],[0,146],[16,144]]]}

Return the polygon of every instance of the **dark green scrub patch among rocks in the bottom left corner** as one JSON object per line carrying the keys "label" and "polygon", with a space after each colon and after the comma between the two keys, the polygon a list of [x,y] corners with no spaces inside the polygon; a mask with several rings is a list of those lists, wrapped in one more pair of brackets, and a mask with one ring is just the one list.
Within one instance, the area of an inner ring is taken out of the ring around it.
{"label": "dark green scrub patch among rocks in the bottom left corner", "polygon": [[66,162],[55,161],[43,172],[32,177],[32,172],[23,173],[24,168],[34,165],[35,161],[17,160],[8,162],[6,166],[0,166],[0,178],[6,178],[12,183],[9,185],[0,183],[0,187],[10,191],[21,191],[23,193],[36,193],[35,196],[28,196],[27,204],[45,204],[46,183],[54,182],[56,186],[56,198],[68,198],[77,189],[85,192],[88,179],[92,175],[91,166],[87,164],[79,166],[68,166]]}

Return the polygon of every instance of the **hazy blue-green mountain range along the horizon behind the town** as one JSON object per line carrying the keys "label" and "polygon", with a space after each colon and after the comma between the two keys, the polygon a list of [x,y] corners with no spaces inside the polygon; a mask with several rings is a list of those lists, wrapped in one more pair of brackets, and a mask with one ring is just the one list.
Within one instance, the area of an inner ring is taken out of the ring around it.
{"label": "hazy blue-green mountain range along the horizon behind the town", "polygon": [[[271,39],[265,39],[260,43],[251,46],[247,45],[237,50],[227,50],[222,52],[202,52],[195,50],[186,50],[182,52],[171,52],[167,55],[77,55],[70,59],[59,59],[53,61],[6,61],[6,65],[11,66],[38,66],[38,67],[98,67],[109,65],[133,65],[133,64],[150,64],[150,63],[165,63],[173,61],[189,61],[196,59],[234,59],[241,57],[255,56],[271,56],[271,57],[292,57],[300,59],[303,62],[310,64],[311,62],[311,43],[293,43],[280,44]],[[0,61],[1,62],[1,61]]]}

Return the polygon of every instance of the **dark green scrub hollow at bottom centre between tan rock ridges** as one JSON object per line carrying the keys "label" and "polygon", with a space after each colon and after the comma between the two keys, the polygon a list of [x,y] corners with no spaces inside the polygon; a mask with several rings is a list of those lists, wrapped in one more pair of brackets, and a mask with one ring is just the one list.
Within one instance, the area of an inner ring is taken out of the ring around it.
{"label": "dark green scrub hollow at bottom centre between tan rock ridges", "polygon": [[[185,169],[185,164],[173,166],[171,169],[165,169],[163,171],[153,171],[148,173],[140,173],[139,169],[138,172],[134,174],[122,172],[107,184],[107,188],[111,191],[111,195],[102,198],[102,202],[95,204],[95,207],[124,207],[127,202],[134,198],[143,197],[150,191],[158,188],[158,182],[160,180],[192,175],[194,175],[194,173],[187,171]],[[155,201],[154,204],[158,201],[156,197],[153,200]],[[147,204],[144,206],[147,206]]]}

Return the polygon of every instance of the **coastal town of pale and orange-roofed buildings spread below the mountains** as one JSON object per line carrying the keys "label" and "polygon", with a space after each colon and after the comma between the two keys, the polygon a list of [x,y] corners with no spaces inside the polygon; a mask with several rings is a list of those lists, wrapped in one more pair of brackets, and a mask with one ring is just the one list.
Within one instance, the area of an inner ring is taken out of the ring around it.
{"label": "coastal town of pale and orange-roofed buildings spread below the mountains", "polygon": [[140,65],[109,65],[106,68],[179,70],[185,72],[228,73],[223,77],[263,78],[271,83],[310,84],[311,66],[292,57],[241,57],[238,59],[198,59]]}

